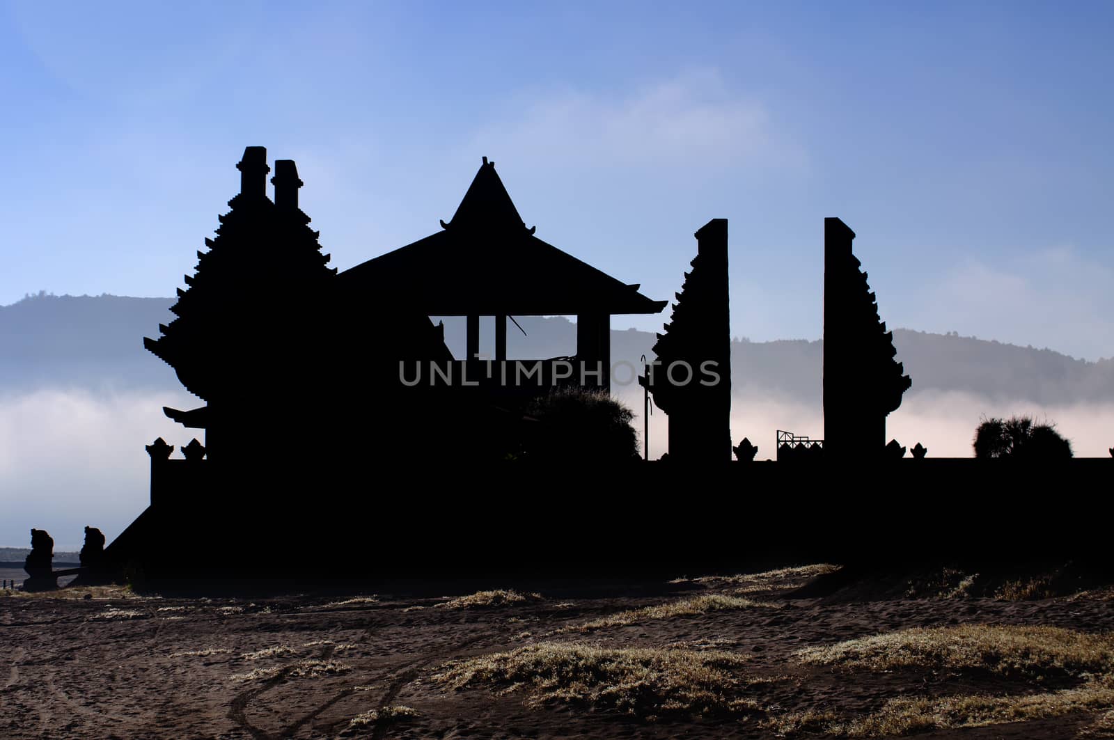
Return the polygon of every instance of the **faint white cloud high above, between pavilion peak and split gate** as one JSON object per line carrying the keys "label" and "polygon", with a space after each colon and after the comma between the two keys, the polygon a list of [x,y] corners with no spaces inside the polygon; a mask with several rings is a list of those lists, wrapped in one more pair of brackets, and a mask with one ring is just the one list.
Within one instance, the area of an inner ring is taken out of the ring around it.
{"label": "faint white cloud high above, between pavilion peak and split gate", "polygon": [[515,120],[481,129],[482,149],[546,169],[646,165],[726,169],[741,162],[803,163],[775,134],[766,107],[714,70],[696,70],[609,97],[566,88],[527,105]]}

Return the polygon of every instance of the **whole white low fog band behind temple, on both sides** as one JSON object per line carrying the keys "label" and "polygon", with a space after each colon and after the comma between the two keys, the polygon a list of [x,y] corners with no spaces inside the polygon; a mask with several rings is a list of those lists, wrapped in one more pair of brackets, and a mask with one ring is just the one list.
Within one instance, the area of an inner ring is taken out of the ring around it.
{"label": "whole white low fog band behind temple, on both sides", "polygon": [[[622,387],[616,395],[635,412],[642,438],[642,389]],[[184,392],[98,396],[62,389],[0,398],[0,544],[28,546],[32,526],[47,529],[59,551],[79,549],[86,525],[111,541],[149,500],[144,445],[162,436],[180,447],[201,437],[201,430],[164,417],[163,406],[192,408],[196,401]],[[957,391],[906,393],[887,434],[906,447],[925,445],[930,457],[969,457],[980,418],[1012,413],[1055,422],[1077,457],[1108,457],[1114,446],[1114,403],[1040,406]],[[823,437],[819,405],[775,396],[736,395],[731,422],[732,441],[750,438],[759,447],[758,459],[775,456],[778,429]],[[651,416],[649,442],[652,458],[666,450],[667,417],[661,410]]]}

